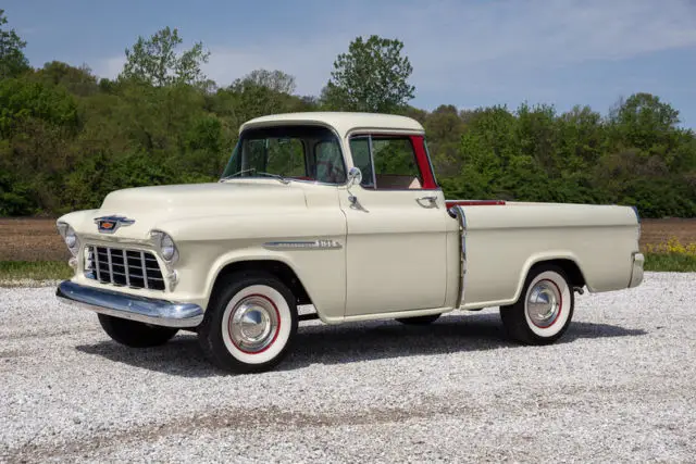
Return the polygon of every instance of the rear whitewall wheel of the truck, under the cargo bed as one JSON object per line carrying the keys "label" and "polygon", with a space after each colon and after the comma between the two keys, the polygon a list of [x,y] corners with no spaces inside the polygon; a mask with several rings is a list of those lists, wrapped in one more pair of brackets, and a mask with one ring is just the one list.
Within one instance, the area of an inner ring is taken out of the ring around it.
{"label": "rear whitewall wheel of the truck, under the cargo bed", "polygon": [[508,335],[525,344],[549,344],[563,336],[573,317],[575,301],[566,273],[542,265],[526,277],[520,299],[500,306]]}

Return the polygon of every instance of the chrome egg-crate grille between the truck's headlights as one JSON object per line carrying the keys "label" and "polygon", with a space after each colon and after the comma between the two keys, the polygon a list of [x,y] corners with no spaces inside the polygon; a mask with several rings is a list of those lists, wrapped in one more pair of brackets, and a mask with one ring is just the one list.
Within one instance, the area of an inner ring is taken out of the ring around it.
{"label": "chrome egg-crate grille between the truck's headlights", "polygon": [[85,276],[120,287],[164,290],[160,265],[150,251],[85,247]]}

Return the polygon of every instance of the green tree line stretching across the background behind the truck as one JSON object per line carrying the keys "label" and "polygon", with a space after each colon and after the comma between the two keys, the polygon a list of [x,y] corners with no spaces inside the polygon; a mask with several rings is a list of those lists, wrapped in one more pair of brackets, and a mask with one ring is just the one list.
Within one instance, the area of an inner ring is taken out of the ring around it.
{"label": "green tree line stretching across the background behind the truck", "polygon": [[0,215],[97,208],[125,187],[219,178],[241,123],[301,111],[405,114],[426,128],[447,198],[637,205],[646,217],[696,216],[696,136],[679,111],[636,93],[608,114],[522,104],[432,112],[409,105],[412,66],[398,40],[353,40],[319,97],[257,70],[208,79],[202,43],[177,29],[139,37],[114,79],[53,61],[33,68],[0,10]]}

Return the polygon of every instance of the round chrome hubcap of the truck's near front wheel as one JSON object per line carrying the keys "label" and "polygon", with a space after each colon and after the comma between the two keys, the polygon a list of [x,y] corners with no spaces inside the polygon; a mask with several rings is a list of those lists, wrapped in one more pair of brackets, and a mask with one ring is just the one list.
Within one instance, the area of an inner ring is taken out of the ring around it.
{"label": "round chrome hubcap of the truck's near front wheel", "polygon": [[273,341],[278,314],[265,297],[253,294],[237,303],[229,317],[229,337],[240,350],[259,352]]}

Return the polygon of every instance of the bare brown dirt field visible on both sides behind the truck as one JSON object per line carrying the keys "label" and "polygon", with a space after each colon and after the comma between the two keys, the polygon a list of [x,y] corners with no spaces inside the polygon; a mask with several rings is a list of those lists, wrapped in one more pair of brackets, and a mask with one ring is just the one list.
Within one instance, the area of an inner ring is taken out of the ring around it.
{"label": "bare brown dirt field visible on both sides behind the truck", "polygon": [[[644,220],[641,246],[658,244],[676,237],[696,242],[696,218]],[[53,218],[0,218],[0,261],[60,261],[70,255]]]}

